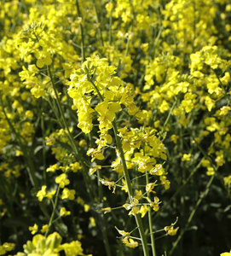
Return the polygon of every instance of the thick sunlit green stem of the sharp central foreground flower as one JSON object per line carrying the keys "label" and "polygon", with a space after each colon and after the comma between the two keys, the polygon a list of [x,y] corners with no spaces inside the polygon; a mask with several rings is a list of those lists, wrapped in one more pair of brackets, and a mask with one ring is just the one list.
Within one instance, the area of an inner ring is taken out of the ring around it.
{"label": "thick sunlit green stem of the sharp central foreground flower", "polygon": [[[132,201],[133,191],[132,191],[132,188],[131,188],[130,175],[129,175],[129,171],[128,171],[126,161],[125,161],[125,158],[124,158],[124,150],[122,148],[120,138],[118,137],[117,125],[114,121],[113,121],[113,131],[114,131],[114,135],[115,135],[115,138],[116,138],[116,143],[117,143],[119,156],[120,156],[120,159],[122,161],[122,165],[124,166],[124,178],[125,178],[125,182],[126,182],[126,185],[127,185],[129,198],[130,198],[130,201]],[[146,239],[146,236],[145,236],[145,233],[144,233],[144,230],[143,230],[141,217],[140,217],[140,215],[135,214],[135,218],[136,218],[136,224],[137,224],[140,236],[141,236],[143,254],[144,254],[144,256],[149,256],[148,247],[147,247],[147,239]]]}

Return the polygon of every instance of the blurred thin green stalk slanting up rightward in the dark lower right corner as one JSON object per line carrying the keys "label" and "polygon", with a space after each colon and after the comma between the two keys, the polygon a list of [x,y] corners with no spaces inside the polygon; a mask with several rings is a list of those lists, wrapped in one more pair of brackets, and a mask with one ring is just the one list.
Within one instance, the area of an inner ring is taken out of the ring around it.
{"label": "blurred thin green stalk slanting up rightward in the dark lower right corner", "polygon": [[199,200],[197,201],[197,203],[196,203],[196,205],[195,205],[195,207],[194,207],[194,209],[193,209],[193,212],[191,212],[191,214],[190,214],[190,216],[189,216],[189,218],[188,218],[187,224],[186,224],[185,227],[182,229],[181,234],[177,237],[176,241],[173,243],[173,246],[172,246],[172,248],[171,248],[171,250],[170,250],[169,255],[171,255],[171,254],[174,252],[174,250],[176,249],[176,246],[177,246],[178,242],[181,241],[184,232],[188,229],[188,225],[191,223],[191,221],[192,221],[192,219],[193,219],[193,216],[194,216],[194,214],[195,214],[197,208],[199,207],[201,201],[205,198],[205,195],[208,194],[213,179],[214,179],[214,175],[211,176],[209,182],[208,182],[207,185],[206,185],[205,191],[200,195],[200,198],[199,198]]}

